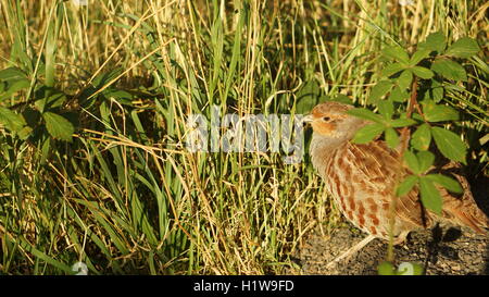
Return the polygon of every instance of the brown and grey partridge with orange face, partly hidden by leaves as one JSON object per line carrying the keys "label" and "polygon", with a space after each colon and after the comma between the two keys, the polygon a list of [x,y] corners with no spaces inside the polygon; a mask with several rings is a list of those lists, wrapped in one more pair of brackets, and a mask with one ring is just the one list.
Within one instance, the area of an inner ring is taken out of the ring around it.
{"label": "brown and grey partridge with orange face, partly hidden by leaves", "polygon": [[[330,262],[350,257],[371,240],[403,243],[408,234],[419,228],[432,227],[437,222],[450,222],[485,233],[489,226],[486,214],[477,207],[467,180],[459,173],[460,164],[448,162],[432,169],[451,172],[464,191],[462,195],[439,188],[442,197],[441,214],[425,209],[419,189],[413,187],[406,195],[394,198],[397,183],[411,172],[403,165],[399,149],[389,148],[377,138],[367,144],[354,144],[355,133],[369,121],[348,114],[354,107],[336,101],[315,106],[303,117],[312,126],[310,156],[313,168],[321,175],[325,187],[342,215],[367,234],[356,246]],[[394,198],[394,199],[393,199]]]}

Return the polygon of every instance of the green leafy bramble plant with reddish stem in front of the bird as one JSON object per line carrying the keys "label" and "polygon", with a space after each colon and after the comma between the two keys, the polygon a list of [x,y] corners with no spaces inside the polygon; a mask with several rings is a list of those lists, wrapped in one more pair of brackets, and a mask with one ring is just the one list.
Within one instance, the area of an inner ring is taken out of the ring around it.
{"label": "green leafy bramble plant with reddish stem in front of the bird", "polygon": [[[372,122],[356,133],[353,141],[364,144],[384,135],[387,145],[398,150],[400,161],[409,169],[410,174],[397,183],[396,196],[404,196],[417,187],[423,206],[438,214],[442,210],[440,187],[451,193],[463,189],[454,178],[430,173],[436,161],[430,149],[466,164],[465,144],[446,125],[460,120],[459,112],[443,104],[443,98],[450,89],[460,89],[460,83],[467,81],[460,60],[479,50],[477,42],[468,37],[448,46],[441,33],[429,35],[412,54],[397,45],[386,47],[383,50],[386,66],[367,99],[377,112],[364,108],[349,112]],[[392,245],[388,260],[393,260]],[[393,267],[379,267],[379,273],[389,269],[393,271]]]}

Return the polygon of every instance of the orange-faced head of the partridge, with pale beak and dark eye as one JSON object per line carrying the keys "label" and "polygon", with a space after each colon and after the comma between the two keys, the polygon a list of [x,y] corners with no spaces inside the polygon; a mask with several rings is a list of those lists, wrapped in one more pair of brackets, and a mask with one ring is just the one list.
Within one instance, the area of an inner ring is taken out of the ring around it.
{"label": "orange-faced head of the partridge, with pale beak and dark eye", "polygon": [[315,136],[350,140],[359,128],[366,124],[365,121],[349,115],[348,110],[353,106],[340,102],[325,102],[313,108],[303,121],[310,123]]}

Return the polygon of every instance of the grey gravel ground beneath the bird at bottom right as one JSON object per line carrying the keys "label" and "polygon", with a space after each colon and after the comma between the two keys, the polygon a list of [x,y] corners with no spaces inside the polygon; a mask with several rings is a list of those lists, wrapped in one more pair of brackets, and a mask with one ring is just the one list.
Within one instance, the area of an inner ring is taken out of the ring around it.
{"label": "grey gravel ground beneath the bird at bottom right", "polygon": [[[353,226],[337,228],[330,236],[316,228],[292,259],[299,270],[288,274],[375,275],[377,265],[386,259],[387,243],[374,239],[358,253],[339,261],[333,268],[327,263],[366,235]],[[394,247],[396,264],[414,262],[425,268],[428,275],[487,275],[489,274],[489,236],[469,230],[436,227],[412,232],[406,242]]]}

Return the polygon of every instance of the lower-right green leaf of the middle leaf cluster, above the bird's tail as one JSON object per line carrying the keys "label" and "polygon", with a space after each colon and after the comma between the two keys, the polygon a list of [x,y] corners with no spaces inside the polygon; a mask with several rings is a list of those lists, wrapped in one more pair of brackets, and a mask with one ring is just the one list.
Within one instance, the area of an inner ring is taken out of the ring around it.
{"label": "lower-right green leaf of the middle leaf cluster, above the bird's tail", "polygon": [[466,164],[465,154],[467,149],[459,135],[441,127],[432,127],[431,134],[438,149],[444,157]]}

